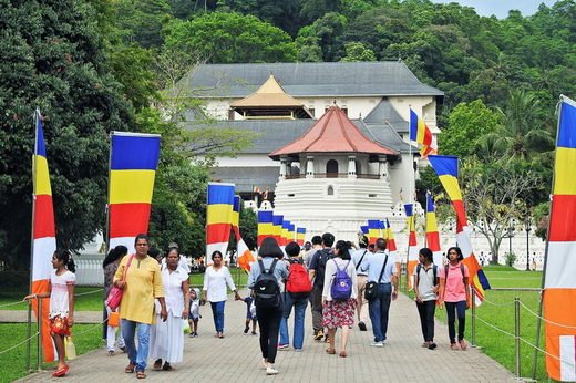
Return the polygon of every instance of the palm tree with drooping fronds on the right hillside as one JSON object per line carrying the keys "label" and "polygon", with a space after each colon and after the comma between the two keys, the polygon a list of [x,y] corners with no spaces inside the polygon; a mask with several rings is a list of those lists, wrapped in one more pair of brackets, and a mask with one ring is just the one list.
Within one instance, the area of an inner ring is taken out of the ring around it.
{"label": "palm tree with drooping fronds on the right hillside", "polygon": [[507,107],[498,113],[502,125],[496,132],[482,136],[477,146],[481,152],[500,154],[503,161],[531,161],[554,147],[554,137],[537,116],[541,102],[523,90],[510,92]]}

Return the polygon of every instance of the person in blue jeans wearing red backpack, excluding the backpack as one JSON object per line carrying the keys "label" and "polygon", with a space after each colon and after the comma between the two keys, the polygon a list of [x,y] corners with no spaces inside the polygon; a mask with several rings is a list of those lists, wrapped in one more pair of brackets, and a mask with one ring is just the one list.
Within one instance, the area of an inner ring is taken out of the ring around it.
{"label": "person in blue jeans wearing red backpack, excluding the backpack", "polygon": [[[298,246],[298,244],[290,242],[286,245],[285,251],[288,255],[288,257],[290,257],[287,266],[291,263],[302,263],[302,260],[298,258],[298,255],[300,253],[300,246]],[[305,266],[302,265],[302,267]],[[280,322],[280,344],[278,344],[278,350],[286,350],[290,344],[290,335],[288,332],[288,318],[290,318],[290,313],[294,307],[292,345],[296,351],[301,351],[304,344],[304,318],[306,313],[306,307],[308,306],[308,296],[295,298],[295,296],[292,296],[292,293],[290,293],[289,291],[285,291],[282,294],[284,311],[282,320]]]}

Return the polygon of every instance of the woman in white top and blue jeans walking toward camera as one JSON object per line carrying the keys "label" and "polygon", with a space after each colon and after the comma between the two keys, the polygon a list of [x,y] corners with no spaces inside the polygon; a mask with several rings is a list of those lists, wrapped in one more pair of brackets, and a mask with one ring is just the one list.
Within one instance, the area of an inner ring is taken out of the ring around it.
{"label": "woman in white top and blue jeans walking toward camera", "polygon": [[224,265],[222,252],[218,250],[212,253],[213,265],[204,272],[204,287],[202,288],[203,301],[210,302],[212,314],[214,317],[215,338],[224,338],[224,307],[226,304],[226,286],[234,292],[236,299],[240,299],[236,286],[232,280],[230,270]]}

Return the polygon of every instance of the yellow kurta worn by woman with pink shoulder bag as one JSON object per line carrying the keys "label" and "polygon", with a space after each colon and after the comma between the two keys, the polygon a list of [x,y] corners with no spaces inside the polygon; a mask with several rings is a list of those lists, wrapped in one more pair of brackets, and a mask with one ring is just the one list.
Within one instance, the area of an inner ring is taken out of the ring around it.
{"label": "yellow kurta worn by woman with pink shoulder bag", "polygon": [[[132,256],[120,262],[114,281],[122,279],[126,263]],[[138,323],[154,323],[154,299],[164,297],[162,273],[158,262],[151,257],[132,260],[126,275],[126,287],[120,302],[120,318]]]}

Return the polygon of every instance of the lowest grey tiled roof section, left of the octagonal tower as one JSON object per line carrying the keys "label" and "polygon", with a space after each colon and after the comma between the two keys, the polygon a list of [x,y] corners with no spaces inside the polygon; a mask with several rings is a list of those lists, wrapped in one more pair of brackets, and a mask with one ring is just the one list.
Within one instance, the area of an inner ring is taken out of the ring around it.
{"label": "lowest grey tiled roof section, left of the octagonal tower", "polygon": [[213,179],[234,183],[237,193],[253,192],[255,186],[274,190],[280,175],[280,163],[278,167],[214,167],[212,173]]}

